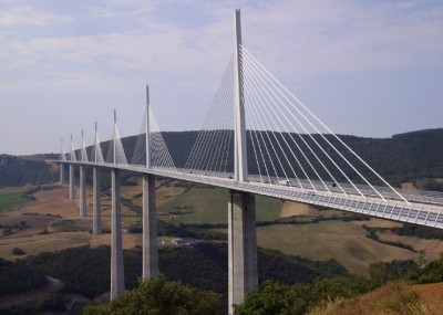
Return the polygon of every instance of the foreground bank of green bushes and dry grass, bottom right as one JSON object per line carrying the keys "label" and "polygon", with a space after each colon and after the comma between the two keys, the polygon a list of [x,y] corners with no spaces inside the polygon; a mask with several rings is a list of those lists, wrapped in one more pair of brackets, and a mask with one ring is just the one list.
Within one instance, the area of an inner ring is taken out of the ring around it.
{"label": "foreground bank of green bushes and dry grass, bottom right", "polygon": [[442,314],[440,296],[437,301],[421,301],[411,286],[436,282],[443,282],[443,253],[422,267],[412,261],[375,263],[368,276],[337,276],[295,285],[267,281],[248,293],[243,304],[235,305],[235,314]]}

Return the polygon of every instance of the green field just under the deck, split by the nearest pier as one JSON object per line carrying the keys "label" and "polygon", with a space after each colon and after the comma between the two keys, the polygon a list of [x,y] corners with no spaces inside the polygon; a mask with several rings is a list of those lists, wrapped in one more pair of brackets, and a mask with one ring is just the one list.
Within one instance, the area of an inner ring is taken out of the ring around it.
{"label": "green field just under the deck, split by the nearest pier", "polygon": [[[275,198],[256,197],[257,220],[279,218],[281,202]],[[172,213],[172,223],[227,223],[228,191],[219,188],[192,188],[182,195],[171,198],[159,207],[164,219]],[[189,213],[186,213],[189,212]]]}

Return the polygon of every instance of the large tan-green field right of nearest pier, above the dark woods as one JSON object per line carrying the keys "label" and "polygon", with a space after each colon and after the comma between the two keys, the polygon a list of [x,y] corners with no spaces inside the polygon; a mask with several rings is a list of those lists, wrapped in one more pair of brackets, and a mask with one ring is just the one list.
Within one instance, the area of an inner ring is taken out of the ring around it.
{"label": "large tan-green field right of nearest pier, above the dark woods", "polygon": [[261,248],[285,254],[321,261],[333,258],[351,271],[363,270],[378,261],[408,260],[419,255],[368,239],[361,227],[342,221],[259,227],[257,242]]}

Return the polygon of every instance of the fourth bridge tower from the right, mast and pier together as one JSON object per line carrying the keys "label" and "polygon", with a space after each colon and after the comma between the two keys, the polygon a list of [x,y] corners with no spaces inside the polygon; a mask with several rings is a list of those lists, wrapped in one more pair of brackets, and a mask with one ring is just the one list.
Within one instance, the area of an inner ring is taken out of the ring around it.
{"label": "fourth bridge tower from the right, mast and pier together", "polygon": [[93,224],[92,233],[94,235],[102,234],[102,204],[100,202],[100,168],[96,166],[99,162],[99,134],[97,124],[95,123],[95,138],[94,138],[94,167],[92,168],[92,199],[93,199]]}

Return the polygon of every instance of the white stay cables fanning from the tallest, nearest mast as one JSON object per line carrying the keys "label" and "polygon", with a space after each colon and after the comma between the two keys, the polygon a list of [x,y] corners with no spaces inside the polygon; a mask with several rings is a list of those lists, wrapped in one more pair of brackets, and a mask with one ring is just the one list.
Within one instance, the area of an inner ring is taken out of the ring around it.
{"label": "white stay cables fanning from the tallest, nearest mast", "polygon": [[[250,181],[363,197],[370,190],[384,199],[371,179],[406,201],[244,46],[240,64]],[[186,169],[218,176],[233,171],[233,107],[231,59]]]}

